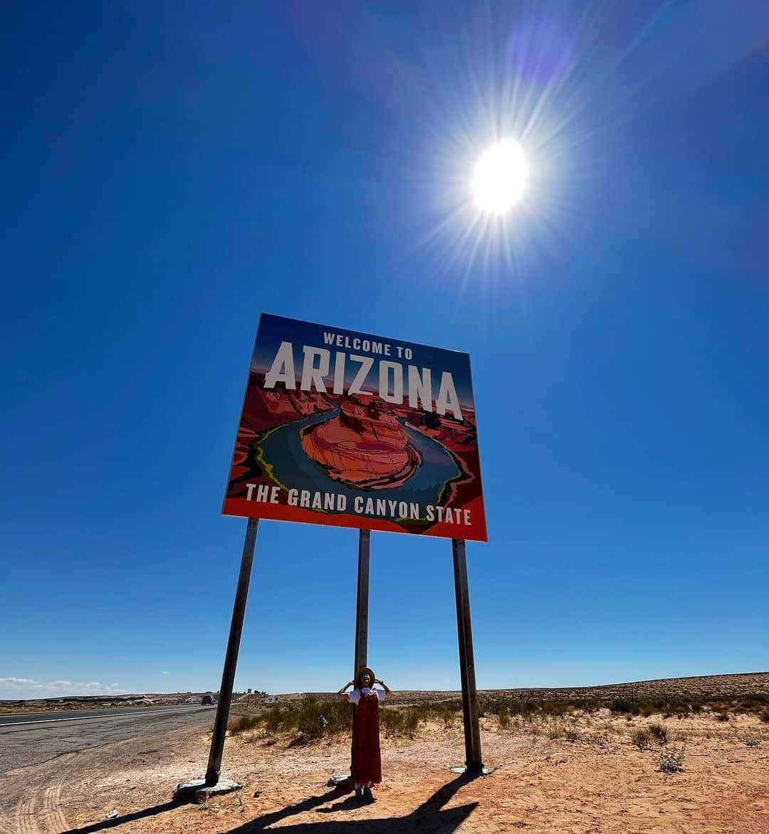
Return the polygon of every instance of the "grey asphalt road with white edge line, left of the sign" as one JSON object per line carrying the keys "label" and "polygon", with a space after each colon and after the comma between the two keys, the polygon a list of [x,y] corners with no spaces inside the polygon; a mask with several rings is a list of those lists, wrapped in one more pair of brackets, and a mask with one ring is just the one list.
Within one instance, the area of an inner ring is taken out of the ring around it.
{"label": "grey asphalt road with white edge line, left of the sign", "polygon": [[194,724],[213,724],[214,706],[133,707],[0,716],[0,774],[98,747]]}

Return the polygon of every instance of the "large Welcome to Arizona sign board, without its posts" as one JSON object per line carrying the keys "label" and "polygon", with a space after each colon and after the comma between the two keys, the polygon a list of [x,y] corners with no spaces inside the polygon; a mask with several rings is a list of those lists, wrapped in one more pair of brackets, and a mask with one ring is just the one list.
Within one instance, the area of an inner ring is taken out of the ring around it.
{"label": "large Welcome to Arizona sign board, without its posts", "polygon": [[470,356],[262,314],[223,512],[485,541]]}

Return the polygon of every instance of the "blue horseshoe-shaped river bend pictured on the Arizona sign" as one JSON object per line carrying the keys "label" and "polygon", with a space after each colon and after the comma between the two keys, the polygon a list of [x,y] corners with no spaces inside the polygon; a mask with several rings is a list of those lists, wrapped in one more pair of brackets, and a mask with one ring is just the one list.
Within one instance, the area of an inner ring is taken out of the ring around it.
{"label": "blue horseshoe-shaped river bend pictured on the Arizona sign", "polygon": [[[421,520],[425,518],[426,505],[440,505],[440,500],[446,485],[452,480],[462,477],[465,473],[460,469],[450,452],[421,432],[406,425],[405,420],[399,420],[409,439],[420,454],[422,462],[405,484],[392,489],[363,490],[360,487],[350,487],[344,482],[329,477],[324,467],[304,454],[301,444],[301,432],[311,425],[333,420],[339,415],[339,408],[311,414],[303,420],[278,426],[254,442],[257,460],[274,484],[285,490],[310,490],[310,492],[329,492],[346,495],[348,508],[357,495],[372,498],[382,498],[398,501],[415,502],[420,505]],[[349,510],[348,510],[349,511]],[[357,513],[356,515],[369,515]],[[370,518],[376,518],[370,514]]]}

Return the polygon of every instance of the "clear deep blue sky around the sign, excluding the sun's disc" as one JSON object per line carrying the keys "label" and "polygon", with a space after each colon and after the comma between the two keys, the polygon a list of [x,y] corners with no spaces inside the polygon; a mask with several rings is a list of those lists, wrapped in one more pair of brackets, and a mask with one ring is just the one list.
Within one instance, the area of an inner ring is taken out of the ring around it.
{"label": "clear deep blue sky around the sign, excluding the sun's disc", "polygon": [[[769,668],[769,5],[15,3],[0,697],[217,689],[259,313],[470,354],[480,687]],[[470,177],[518,138],[505,222]],[[264,522],[236,687],[353,661],[358,535]],[[448,540],[369,662],[458,688]]]}

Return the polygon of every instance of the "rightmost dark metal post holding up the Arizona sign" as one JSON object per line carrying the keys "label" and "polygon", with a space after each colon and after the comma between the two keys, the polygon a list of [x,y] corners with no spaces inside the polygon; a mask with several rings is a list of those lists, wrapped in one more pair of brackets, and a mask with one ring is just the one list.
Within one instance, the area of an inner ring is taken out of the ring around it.
{"label": "rightmost dark metal post holding up the Arizona sign", "polygon": [[460,643],[460,676],[462,679],[462,713],[465,720],[465,765],[469,773],[483,773],[480,755],[480,724],[478,692],[475,689],[473,629],[470,623],[470,591],[467,587],[465,540],[451,542],[454,555],[454,592],[456,597],[456,631]]}

